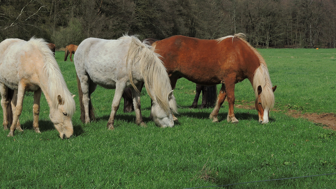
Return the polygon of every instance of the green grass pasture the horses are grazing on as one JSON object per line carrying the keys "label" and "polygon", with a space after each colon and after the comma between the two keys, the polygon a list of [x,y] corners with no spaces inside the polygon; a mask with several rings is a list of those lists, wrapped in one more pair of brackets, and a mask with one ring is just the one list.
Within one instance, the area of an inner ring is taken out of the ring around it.
{"label": "green grass pasture the horses are grazing on", "polygon": [[[0,129],[0,188],[190,188],[336,173],[336,132],[286,115],[289,110],[336,113],[336,50],[259,51],[277,85],[276,111],[268,124],[258,123],[256,110],[238,108],[239,123],[227,123],[227,102],[220,109],[220,122],[212,123],[212,109],[187,108],[195,85],[179,79],[174,94],[181,108],[175,127],[155,126],[149,119],[150,98],[143,90],[147,127],[134,123],[134,113],[122,112],[122,101],[113,131],[106,124],[114,90],[97,88],[92,95],[97,121],[82,124],[74,65],[63,61],[64,51],[57,51],[68,88],[76,94],[74,137],[59,138],[44,96],[42,133],[35,133],[33,95],[27,93],[20,117],[24,131],[8,138],[9,131]],[[235,94],[237,104],[254,104],[248,80],[236,85]],[[226,188],[336,188],[336,175]]]}

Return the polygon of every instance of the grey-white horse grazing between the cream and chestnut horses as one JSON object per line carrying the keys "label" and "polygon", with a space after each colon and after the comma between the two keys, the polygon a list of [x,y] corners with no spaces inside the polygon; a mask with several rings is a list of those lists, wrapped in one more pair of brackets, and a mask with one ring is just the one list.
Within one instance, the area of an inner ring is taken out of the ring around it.
{"label": "grey-white horse grazing between the cream and chestnut horses", "polygon": [[[173,127],[172,111],[177,104],[167,72],[152,47],[134,36],[118,40],[88,38],[75,53],[81,119],[89,123],[93,118],[91,94],[97,85],[116,89],[107,128],[114,129],[114,120],[126,87],[132,86],[136,123],[145,125],[140,110],[139,87],[145,82],[147,93],[153,100],[151,115],[160,127]],[[81,97],[82,94],[82,97]]]}

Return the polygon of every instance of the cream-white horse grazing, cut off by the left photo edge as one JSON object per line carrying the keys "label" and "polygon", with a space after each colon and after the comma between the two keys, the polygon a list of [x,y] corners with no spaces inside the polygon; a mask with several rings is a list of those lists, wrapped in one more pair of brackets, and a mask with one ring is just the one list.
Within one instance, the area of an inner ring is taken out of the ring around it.
{"label": "cream-white horse grazing, cut off by the left photo edge", "polygon": [[33,127],[36,132],[40,132],[38,120],[43,92],[50,107],[50,120],[60,132],[60,137],[63,139],[72,136],[71,119],[76,109],[75,101],[53,53],[43,39],[6,39],[0,43],[0,92],[4,129],[8,128],[7,114],[10,112],[7,107],[9,98],[12,98],[8,95],[10,90],[14,90],[11,102],[13,122],[8,137],[13,137],[15,128],[21,129],[18,119],[25,91],[34,91]]}

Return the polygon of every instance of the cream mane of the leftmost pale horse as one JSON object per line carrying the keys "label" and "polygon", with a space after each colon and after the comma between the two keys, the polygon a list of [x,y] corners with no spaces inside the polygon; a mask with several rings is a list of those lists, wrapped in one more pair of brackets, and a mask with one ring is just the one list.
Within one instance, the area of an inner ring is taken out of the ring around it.
{"label": "cream mane of the leftmost pale horse", "polygon": [[76,109],[75,101],[67,88],[67,84],[65,83],[60,67],[57,64],[52,51],[43,39],[32,38],[29,42],[32,45],[35,45],[42,55],[44,55],[45,60],[43,69],[48,76],[48,94],[52,103],[50,105],[56,107],[59,103],[57,97],[58,95],[61,95],[64,100],[65,111],[67,111],[69,116],[72,116]]}

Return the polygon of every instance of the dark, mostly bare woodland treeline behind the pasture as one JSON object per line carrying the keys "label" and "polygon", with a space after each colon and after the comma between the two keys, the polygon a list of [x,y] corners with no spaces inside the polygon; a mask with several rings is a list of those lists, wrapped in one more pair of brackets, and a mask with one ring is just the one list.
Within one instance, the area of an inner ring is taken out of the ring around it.
{"label": "dark, mostly bare woodland treeline behind the pasture", "polygon": [[123,34],[217,39],[255,47],[335,48],[336,0],[0,0],[0,40],[32,36],[58,48]]}

